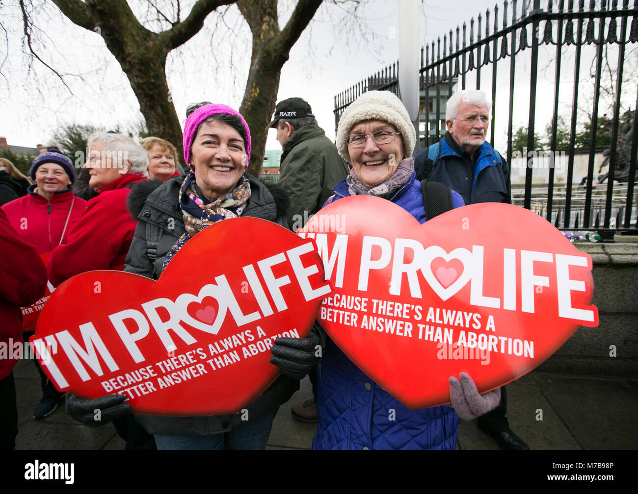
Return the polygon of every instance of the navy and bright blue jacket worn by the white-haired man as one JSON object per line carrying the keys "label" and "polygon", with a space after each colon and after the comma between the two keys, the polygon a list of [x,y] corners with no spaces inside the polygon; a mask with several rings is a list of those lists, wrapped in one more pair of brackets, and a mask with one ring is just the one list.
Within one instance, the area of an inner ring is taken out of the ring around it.
{"label": "navy and bright blue jacket worn by the white-haired man", "polygon": [[[484,142],[472,159],[450,135],[440,141],[439,157],[428,180],[441,182],[463,196],[466,204],[512,203],[510,167],[489,143]],[[427,148],[414,155],[420,177],[427,161]]]}

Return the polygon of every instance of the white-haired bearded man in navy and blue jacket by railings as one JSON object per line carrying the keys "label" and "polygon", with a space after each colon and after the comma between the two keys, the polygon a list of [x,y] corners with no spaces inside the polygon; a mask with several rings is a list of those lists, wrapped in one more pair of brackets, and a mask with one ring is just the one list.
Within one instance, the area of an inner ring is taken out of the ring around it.
{"label": "white-haired bearded man in navy and blue jacket by railings", "polygon": [[[483,91],[452,94],[445,112],[447,132],[440,142],[414,155],[419,180],[447,185],[461,194],[466,204],[511,204],[510,167],[485,140],[491,109],[492,102]],[[510,429],[505,412],[503,386],[498,407],[480,416],[477,425],[503,449],[529,449]]]}

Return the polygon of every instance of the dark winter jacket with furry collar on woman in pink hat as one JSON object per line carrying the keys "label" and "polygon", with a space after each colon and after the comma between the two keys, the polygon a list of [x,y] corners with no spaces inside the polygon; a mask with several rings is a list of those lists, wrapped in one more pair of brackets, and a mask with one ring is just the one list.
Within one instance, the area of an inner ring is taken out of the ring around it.
{"label": "dark winter jacket with furry collar on woman in pink hat", "polygon": [[[248,178],[251,196],[242,216],[275,222],[287,228],[285,214],[290,205],[286,193],[276,186],[267,187],[251,175]],[[184,219],[179,207],[179,187],[186,175],[140,182],[128,196],[128,208],[138,220],[131,248],[126,256],[124,271],[158,279],[164,257],[184,233]],[[267,241],[267,239],[265,239]],[[262,395],[248,405],[250,417],[277,409],[299,389],[299,381],[280,375]],[[165,417],[135,415],[147,432],[162,435],[213,435],[232,430],[241,423],[239,413],[221,416]]]}

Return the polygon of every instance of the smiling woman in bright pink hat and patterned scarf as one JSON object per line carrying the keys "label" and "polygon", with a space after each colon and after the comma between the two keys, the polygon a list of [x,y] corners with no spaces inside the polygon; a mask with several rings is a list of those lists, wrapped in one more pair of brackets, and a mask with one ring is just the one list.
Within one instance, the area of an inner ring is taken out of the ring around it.
{"label": "smiling woman in bright pink hat and patterned scarf", "polygon": [[[286,194],[245,173],[250,144],[248,124],[229,106],[200,103],[188,108],[183,145],[184,162],[190,171],[159,186],[157,182],[140,184],[131,193],[129,208],[139,222],[124,271],[158,279],[193,235],[224,219],[250,216],[286,227]],[[289,339],[280,338],[275,346],[286,345]],[[316,340],[295,338],[295,342],[312,350],[308,352],[309,369]],[[280,370],[284,375],[248,405],[248,421],[242,421],[241,414],[135,415],[135,419],[154,435],[158,449],[263,449],[279,405],[299,389],[299,379],[306,374]],[[102,400],[103,418],[105,409],[114,416],[130,412],[128,404],[122,403],[122,395],[98,400]],[[87,410],[93,410],[96,400],[71,398],[67,403],[71,416],[82,420]]]}

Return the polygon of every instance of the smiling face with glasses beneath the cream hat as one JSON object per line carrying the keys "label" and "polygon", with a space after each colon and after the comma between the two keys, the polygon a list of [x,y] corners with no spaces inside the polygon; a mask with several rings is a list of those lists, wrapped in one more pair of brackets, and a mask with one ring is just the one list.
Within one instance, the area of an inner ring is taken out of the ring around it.
{"label": "smiling face with glasses beneath the cream hat", "polygon": [[[366,120],[353,126],[348,137],[352,134],[369,135],[382,130],[396,131],[392,125],[382,120]],[[377,144],[372,137],[368,137],[364,147],[348,147],[348,153],[353,170],[368,189],[383,184],[392,177],[405,156],[401,134],[397,134],[394,141],[387,144]]]}

